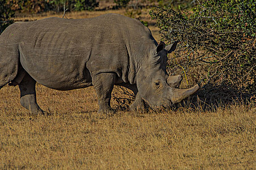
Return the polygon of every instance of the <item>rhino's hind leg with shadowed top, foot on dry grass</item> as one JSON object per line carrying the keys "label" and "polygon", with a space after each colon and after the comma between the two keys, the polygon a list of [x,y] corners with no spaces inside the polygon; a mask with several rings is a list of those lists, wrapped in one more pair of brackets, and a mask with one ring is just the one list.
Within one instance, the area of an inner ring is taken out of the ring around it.
{"label": "rhino's hind leg with shadowed top, foot on dry grass", "polygon": [[20,88],[20,104],[28,109],[32,114],[44,114],[38,106],[36,100],[36,81],[26,73],[19,84]]}

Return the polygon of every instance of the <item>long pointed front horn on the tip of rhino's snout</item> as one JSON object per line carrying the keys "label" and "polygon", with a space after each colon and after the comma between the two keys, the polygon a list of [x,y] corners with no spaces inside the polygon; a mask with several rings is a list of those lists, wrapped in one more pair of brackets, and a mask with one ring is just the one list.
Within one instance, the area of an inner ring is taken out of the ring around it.
{"label": "long pointed front horn on the tip of rhino's snout", "polygon": [[194,85],[193,87],[187,89],[171,88],[171,101],[174,104],[181,102],[185,98],[196,93],[199,88],[199,85]]}

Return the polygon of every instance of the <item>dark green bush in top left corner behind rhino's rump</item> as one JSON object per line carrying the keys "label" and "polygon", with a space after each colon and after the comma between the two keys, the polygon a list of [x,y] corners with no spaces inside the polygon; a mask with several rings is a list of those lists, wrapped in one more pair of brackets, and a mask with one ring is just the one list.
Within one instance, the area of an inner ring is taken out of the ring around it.
{"label": "dark green bush in top left corner behind rhino's rump", "polygon": [[11,6],[12,3],[7,0],[0,1],[0,34],[13,23],[14,11],[11,9]]}

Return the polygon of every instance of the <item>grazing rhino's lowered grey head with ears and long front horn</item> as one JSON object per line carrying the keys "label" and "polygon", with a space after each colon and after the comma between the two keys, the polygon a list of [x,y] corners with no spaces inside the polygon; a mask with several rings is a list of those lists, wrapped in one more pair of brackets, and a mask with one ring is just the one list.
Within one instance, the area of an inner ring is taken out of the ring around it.
{"label": "grazing rhino's lowered grey head with ears and long front horn", "polygon": [[142,99],[152,107],[170,107],[199,89],[199,85],[188,89],[170,86],[172,82],[168,82],[171,79],[168,79],[166,72],[167,54],[174,51],[176,46],[177,42],[165,46],[161,41],[156,48],[150,50],[147,61],[143,62],[139,71],[138,92]]}

